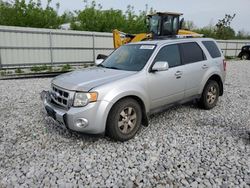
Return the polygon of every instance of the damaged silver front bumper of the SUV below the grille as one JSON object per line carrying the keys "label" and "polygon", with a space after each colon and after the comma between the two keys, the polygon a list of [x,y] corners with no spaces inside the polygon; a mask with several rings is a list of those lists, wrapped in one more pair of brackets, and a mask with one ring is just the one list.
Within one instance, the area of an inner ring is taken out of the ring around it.
{"label": "damaged silver front bumper of the SUV below the grille", "polygon": [[[97,101],[89,103],[84,107],[62,108],[51,102],[50,93],[43,91],[41,94],[43,104],[47,114],[61,126],[68,129],[90,133],[102,134],[105,132],[106,120],[112,104],[107,101]],[[87,120],[86,126],[77,126],[79,119]]]}

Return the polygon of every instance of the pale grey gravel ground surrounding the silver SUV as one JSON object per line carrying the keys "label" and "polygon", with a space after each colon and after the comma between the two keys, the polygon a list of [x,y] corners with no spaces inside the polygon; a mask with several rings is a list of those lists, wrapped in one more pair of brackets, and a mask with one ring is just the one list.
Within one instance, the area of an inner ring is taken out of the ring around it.
{"label": "pale grey gravel ground surrounding the silver SUV", "polygon": [[50,79],[0,81],[0,187],[250,187],[250,62],[228,62],[218,105],[171,108],[125,143],[47,117]]}

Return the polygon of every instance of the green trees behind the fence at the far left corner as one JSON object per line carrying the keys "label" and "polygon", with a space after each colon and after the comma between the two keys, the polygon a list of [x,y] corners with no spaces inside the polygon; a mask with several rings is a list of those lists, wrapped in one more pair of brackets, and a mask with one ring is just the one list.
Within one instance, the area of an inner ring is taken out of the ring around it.
{"label": "green trees behind the fence at the far left corner", "polygon": [[51,0],[42,8],[40,0],[30,0],[28,3],[25,0],[0,1],[0,25],[58,28],[64,20],[50,4]]}

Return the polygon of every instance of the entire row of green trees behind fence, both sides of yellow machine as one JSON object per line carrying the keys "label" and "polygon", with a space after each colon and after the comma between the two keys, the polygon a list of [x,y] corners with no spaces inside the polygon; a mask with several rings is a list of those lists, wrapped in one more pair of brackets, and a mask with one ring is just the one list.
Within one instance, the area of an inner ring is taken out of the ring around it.
{"label": "entire row of green trees behind fence, both sides of yellow machine", "polygon": [[[53,8],[51,3],[52,0],[48,0],[43,7],[41,0],[0,0],[0,25],[58,29],[60,25],[70,23],[73,30],[111,32],[118,29],[125,33],[142,33],[147,32],[146,15],[155,12],[147,5],[139,13],[135,13],[134,7],[130,5],[124,12],[103,10],[101,4],[84,0],[83,10],[67,11],[59,15],[60,4],[57,3]],[[186,21],[184,28],[216,39],[250,39],[249,33],[236,33],[231,27],[235,16],[226,14],[215,25],[204,28],[196,28],[192,21]]]}

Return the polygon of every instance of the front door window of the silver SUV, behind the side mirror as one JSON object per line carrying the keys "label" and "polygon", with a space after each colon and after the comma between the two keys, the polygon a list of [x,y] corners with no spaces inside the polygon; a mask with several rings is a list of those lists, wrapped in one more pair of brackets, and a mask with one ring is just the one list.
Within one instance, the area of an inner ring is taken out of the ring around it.
{"label": "front door window of the silver SUV, behind the side mirror", "polygon": [[163,47],[155,57],[154,62],[157,61],[167,61],[169,67],[181,65],[179,47],[176,44]]}

